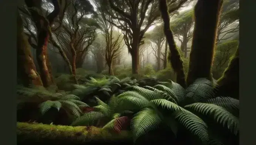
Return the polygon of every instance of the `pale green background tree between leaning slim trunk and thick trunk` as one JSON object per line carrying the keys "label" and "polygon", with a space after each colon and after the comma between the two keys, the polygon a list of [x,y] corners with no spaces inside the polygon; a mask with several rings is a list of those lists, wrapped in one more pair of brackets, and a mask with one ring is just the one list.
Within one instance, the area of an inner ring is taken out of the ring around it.
{"label": "pale green background tree between leaning slim trunk and thick trunk", "polygon": [[181,42],[181,50],[184,57],[187,57],[187,44],[192,38],[193,34],[193,10],[187,10],[180,13],[174,21],[171,22],[171,29],[174,36]]}

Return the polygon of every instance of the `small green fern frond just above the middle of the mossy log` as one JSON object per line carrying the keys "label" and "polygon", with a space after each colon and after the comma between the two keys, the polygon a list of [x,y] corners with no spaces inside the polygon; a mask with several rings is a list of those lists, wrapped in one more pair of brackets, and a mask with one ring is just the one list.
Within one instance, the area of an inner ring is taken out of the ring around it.
{"label": "small green fern frond just above the middle of the mossy log", "polygon": [[94,123],[94,121],[101,119],[104,117],[104,114],[101,112],[88,112],[85,113],[83,116],[79,117],[76,119],[71,126],[87,126],[90,125],[91,123]]}

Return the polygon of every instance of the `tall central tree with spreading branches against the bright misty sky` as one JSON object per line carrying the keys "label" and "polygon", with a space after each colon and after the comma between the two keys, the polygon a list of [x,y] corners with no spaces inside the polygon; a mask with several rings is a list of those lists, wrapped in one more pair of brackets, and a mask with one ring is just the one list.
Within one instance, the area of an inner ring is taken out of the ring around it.
{"label": "tall central tree with spreading branches against the bright misty sky", "polygon": [[[167,0],[169,13],[178,10],[188,0]],[[114,13],[109,12],[112,23],[121,29],[124,34],[125,44],[132,56],[132,73],[138,74],[139,68],[139,45],[142,38],[156,19],[160,17],[157,0],[108,0]]]}

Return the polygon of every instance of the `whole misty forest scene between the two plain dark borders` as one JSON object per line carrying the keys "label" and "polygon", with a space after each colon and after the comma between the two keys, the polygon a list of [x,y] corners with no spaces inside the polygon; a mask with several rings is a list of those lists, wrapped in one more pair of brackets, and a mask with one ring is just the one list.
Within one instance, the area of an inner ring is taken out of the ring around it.
{"label": "whole misty forest scene between the two plain dark borders", "polygon": [[239,0],[21,0],[17,144],[239,145]]}

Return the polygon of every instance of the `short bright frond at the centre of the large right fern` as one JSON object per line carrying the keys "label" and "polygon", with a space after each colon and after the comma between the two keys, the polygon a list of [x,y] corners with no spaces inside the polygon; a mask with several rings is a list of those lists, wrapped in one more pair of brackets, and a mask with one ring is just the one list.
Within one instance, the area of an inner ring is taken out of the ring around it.
{"label": "short bright frond at the centre of the large right fern", "polygon": [[155,100],[151,100],[151,102],[154,103],[156,106],[161,106],[163,109],[168,109],[173,112],[178,112],[183,110],[182,107],[165,99],[155,99]]}

